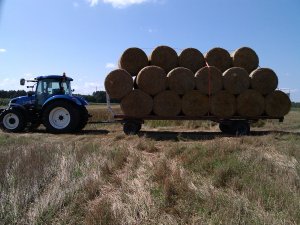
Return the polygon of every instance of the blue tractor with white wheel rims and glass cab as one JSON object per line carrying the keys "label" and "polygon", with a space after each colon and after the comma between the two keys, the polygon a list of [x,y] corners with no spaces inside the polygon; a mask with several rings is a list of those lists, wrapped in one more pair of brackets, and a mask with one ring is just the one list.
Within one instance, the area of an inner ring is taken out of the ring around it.
{"label": "blue tractor with white wheel rims and glass cab", "polygon": [[[40,76],[31,87],[35,91],[12,99],[0,111],[0,128],[6,132],[33,130],[43,124],[50,133],[71,133],[82,130],[88,122],[88,104],[72,95],[72,78],[61,75]],[[25,79],[20,80],[25,85]]]}

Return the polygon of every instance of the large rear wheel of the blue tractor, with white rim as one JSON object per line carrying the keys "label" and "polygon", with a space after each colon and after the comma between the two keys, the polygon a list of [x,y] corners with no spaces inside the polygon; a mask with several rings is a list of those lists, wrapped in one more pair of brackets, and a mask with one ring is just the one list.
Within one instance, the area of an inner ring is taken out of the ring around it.
{"label": "large rear wheel of the blue tractor, with white rim", "polygon": [[67,101],[54,101],[43,112],[43,124],[50,133],[75,132],[80,121],[80,110]]}

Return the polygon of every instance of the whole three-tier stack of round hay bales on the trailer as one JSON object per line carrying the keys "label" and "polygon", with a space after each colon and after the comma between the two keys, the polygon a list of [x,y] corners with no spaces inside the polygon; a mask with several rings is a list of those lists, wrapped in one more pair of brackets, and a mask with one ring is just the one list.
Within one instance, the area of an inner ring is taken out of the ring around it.
{"label": "whole three-tier stack of round hay bales on the trailer", "polygon": [[129,48],[120,69],[107,75],[105,89],[130,117],[282,117],[290,110],[290,99],[276,90],[274,71],[258,64],[248,47],[231,55],[213,48],[205,56],[187,48],[178,56],[174,49],[158,46],[149,58],[143,50]]}

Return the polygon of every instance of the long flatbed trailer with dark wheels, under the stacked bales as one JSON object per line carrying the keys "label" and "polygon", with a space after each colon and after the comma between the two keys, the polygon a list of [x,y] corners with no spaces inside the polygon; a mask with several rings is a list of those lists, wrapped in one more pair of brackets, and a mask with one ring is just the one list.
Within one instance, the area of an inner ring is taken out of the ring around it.
{"label": "long flatbed trailer with dark wheels, under the stacked bales", "polygon": [[146,120],[208,120],[219,123],[219,128],[223,133],[235,134],[235,135],[248,135],[250,133],[250,124],[255,123],[258,120],[278,120],[283,122],[284,117],[272,117],[272,116],[256,116],[256,117],[242,117],[232,116],[229,118],[220,118],[213,115],[206,116],[156,116],[149,115],[144,117],[130,117],[123,114],[115,114],[113,116],[116,122],[123,124],[123,131],[125,134],[137,134],[142,128],[142,124]]}

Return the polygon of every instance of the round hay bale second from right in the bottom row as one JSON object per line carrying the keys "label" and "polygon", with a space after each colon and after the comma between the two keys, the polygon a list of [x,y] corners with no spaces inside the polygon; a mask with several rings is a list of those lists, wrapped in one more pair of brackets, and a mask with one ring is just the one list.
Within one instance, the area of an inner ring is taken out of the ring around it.
{"label": "round hay bale second from right in the bottom row", "polygon": [[240,116],[254,117],[264,113],[265,99],[256,90],[246,90],[237,97],[237,113]]}

